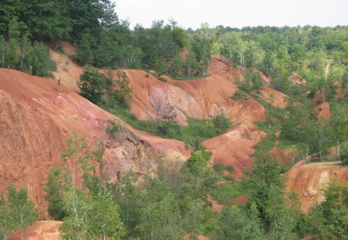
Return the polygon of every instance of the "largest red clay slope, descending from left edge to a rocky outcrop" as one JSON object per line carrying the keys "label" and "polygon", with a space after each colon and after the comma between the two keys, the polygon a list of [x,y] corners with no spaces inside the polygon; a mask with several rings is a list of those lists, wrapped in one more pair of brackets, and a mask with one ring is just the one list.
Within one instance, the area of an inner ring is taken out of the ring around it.
{"label": "largest red clay slope, descending from left edge to a rocky outcrop", "polygon": [[151,146],[175,159],[189,157],[184,143],[136,131],[120,120],[130,131],[115,140],[105,131],[110,119],[118,120],[55,79],[0,69],[0,193],[9,184],[26,187],[47,217],[42,186],[49,169],[63,164],[59,153],[73,130],[89,143],[104,141],[104,159],[96,173],[111,180],[116,180],[117,170],[147,171],[154,161]]}

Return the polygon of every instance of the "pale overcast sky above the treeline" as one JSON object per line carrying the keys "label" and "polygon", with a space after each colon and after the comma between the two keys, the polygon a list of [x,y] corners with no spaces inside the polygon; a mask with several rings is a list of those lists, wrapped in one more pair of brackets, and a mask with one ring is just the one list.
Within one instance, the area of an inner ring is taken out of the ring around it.
{"label": "pale overcast sky above the treeline", "polygon": [[348,25],[348,0],[113,0],[120,19],[150,27],[175,19],[185,29],[210,26]]}

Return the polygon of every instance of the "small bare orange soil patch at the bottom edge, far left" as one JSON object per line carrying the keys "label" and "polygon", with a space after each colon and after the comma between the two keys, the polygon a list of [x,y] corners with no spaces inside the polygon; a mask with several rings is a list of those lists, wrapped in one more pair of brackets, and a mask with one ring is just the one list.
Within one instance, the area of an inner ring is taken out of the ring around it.
{"label": "small bare orange soil patch at the bottom edge, far left", "polygon": [[[23,239],[26,240],[61,240],[59,237],[60,221],[38,221],[24,231]],[[20,240],[21,233],[18,231],[8,238],[8,240]]]}

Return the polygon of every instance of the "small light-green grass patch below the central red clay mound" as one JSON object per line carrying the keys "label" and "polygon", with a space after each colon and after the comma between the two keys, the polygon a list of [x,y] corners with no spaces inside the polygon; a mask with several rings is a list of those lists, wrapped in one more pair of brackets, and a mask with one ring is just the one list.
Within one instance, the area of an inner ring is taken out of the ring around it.
{"label": "small light-green grass patch below the central red clay mound", "polygon": [[212,192],[214,200],[222,205],[230,206],[233,204],[233,199],[245,195],[248,186],[245,181],[234,181],[231,184],[220,184]]}

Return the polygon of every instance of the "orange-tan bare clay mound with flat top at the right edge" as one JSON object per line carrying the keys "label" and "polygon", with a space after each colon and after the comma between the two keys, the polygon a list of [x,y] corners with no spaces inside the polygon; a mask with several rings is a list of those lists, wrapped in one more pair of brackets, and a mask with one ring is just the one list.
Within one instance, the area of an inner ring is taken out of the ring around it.
{"label": "orange-tan bare clay mound with flat top at the right edge", "polygon": [[303,164],[297,163],[292,170],[285,174],[287,191],[294,189],[301,200],[301,210],[308,213],[317,203],[324,200],[320,189],[337,179],[338,182],[348,182],[348,167],[340,162],[320,162]]}

